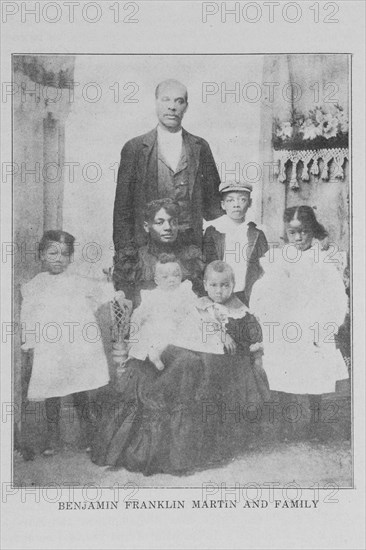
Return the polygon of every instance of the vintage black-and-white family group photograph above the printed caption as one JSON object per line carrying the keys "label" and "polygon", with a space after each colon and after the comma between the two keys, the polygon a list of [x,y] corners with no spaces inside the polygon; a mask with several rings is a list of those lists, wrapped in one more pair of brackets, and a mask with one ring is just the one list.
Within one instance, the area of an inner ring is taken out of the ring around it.
{"label": "vintage black-and-white family group photograph above the printed caption", "polygon": [[12,56],[14,486],[353,487],[351,62]]}

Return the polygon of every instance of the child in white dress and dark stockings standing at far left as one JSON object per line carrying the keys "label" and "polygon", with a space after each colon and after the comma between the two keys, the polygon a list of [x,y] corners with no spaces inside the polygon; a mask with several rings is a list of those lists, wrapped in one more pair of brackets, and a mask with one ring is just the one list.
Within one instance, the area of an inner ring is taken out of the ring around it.
{"label": "child in white dress and dark stockings standing at far left", "polygon": [[39,244],[45,271],[21,288],[22,349],[34,350],[28,399],[45,400],[45,456],[59,448],[60,398],[70,394],[80,420],[81,444],[88,449],[94,427],[88,391],[109,382],[94,311],[116,293],[112,283],[71,273],[74,241],[65,231],[47,231]]}

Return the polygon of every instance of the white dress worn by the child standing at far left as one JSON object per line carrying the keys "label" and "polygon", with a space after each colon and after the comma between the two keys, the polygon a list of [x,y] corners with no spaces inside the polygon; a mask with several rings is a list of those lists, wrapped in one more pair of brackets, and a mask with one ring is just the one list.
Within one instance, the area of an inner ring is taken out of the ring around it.
{"label": "white dress worn by the child standing at far left", "polygon": [[[34,347],[28,399],[42,401],[108,384],[109,372],[94,316],[113,285],[69,274],[39,273],[22,286],[23,349]],[[37,341],[38,340],[38,341]]]}

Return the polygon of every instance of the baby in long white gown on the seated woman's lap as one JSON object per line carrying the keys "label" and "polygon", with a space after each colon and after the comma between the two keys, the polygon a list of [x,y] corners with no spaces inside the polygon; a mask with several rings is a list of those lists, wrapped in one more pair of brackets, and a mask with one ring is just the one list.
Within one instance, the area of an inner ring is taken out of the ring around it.
{"label": "baby in long white gown on the seated woman's lap", "polygon": [[158,370],[163,370],[161,354],[169,344],[223,353],[219,336],[215,344],[202,343],[197,296],[190,281],[182,282],[182,268],[173,254],[160,254],[155,283],[155,289],[141,291],[141,304],[132,315],[129,357],[141,361],[148,357]]}

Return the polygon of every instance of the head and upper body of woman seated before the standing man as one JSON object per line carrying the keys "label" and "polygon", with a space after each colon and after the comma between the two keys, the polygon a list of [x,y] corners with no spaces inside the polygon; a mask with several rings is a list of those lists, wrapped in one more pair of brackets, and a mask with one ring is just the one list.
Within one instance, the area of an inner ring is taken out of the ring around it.
{"label": "head and upper body of woman seated before the standing man", "polygon": [[192,282],[193,291],[202,295],[204,262],[201,249],[183,243],[178,231],[179,205],[172,199],[159,199],[147,204],[144,229],[148,244],[136,249],[124,249],[116,258],[114,284],[124,290],[134,305],[140,304],[142,289],[156,287],[155,266],[160,254],[174,254],[182,266],[183,280]]}

